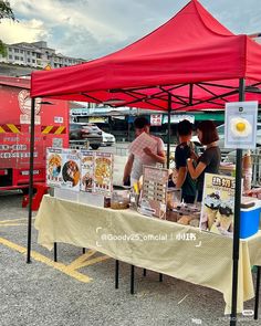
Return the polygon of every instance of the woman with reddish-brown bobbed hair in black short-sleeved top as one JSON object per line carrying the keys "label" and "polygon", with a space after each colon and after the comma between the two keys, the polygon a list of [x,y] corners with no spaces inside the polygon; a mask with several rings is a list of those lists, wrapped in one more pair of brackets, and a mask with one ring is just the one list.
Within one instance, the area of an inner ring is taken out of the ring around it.
{"label": "woman with reddish-brown bobbed hair in black short-sleeved top", "polygon": [[197,127],[197,135],[199,141],[206,146],[206,150],[197,159],[196,168],[191,158],[187,159],[187,165],[191,178],[197,179],[197,201],[201,202],[205,173],[219,173],[221,154],[218,147],[219,136],[213,122],[201,122]]}

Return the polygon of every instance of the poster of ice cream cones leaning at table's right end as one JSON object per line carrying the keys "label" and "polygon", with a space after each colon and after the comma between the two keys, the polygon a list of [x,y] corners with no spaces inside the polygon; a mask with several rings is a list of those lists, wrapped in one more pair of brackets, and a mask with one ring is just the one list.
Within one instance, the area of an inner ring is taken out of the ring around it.
{"label": "poster of ice cream cones leaning at table's right end", "polygon": [[233,236],[234,178],[205,175],[200,229]]}

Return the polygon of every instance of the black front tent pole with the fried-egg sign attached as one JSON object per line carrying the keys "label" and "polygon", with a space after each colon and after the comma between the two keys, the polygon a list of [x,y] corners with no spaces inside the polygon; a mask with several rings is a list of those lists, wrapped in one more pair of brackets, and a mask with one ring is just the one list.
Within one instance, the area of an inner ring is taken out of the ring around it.
{"label": "black front tent pole with the fried-egg sign attached", "polygon": [[[239,102],[244,101],[244,80],[239,80]],[[239,264],[239,234],[240,234],[240,204],[241,204],[241,177],[242,177],[242,149],[237,149],[236,162],[236,193],[234,193],[234,229],[233,229],[233,272],[232,272],[232,303],[230,325],[237,325],[238,303],[238,264]]]}

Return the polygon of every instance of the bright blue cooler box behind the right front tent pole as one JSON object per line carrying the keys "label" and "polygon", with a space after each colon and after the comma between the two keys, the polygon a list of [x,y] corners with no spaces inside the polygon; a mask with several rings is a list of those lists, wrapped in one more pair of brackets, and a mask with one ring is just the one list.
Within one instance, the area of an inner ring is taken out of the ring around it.
{"label": "bright blue cooler box behind the right front tent pole", "polygon": [[261,207],[240,210],[240,239],[249,238],[259,231]]}

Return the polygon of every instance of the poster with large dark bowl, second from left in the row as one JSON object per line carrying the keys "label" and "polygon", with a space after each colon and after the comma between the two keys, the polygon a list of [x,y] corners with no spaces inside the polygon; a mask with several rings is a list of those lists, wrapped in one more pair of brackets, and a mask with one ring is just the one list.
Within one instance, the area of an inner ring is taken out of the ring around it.
{"label": "poster with large dark bowl, second from left in the row", "polygon": [[80,191],[81,156],[76,149],[63,149],[61,188]]}

